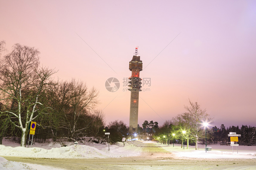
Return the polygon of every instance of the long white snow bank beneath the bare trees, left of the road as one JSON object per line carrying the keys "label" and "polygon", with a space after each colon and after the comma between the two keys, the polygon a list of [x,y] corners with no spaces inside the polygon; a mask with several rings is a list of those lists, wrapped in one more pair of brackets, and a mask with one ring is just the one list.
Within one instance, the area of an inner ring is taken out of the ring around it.
{"label": "long white snow bank beneath the bare trees, left of the road", "polygon": [[108,150],[108,144],[96,143],[91,143],[90,146],[74,144],[51,149],[0,145],[0,155],[37,158],[118,158],[139,155],[141,152],[141,148],[137,148],[133,144],[126,142],[125,147],[120,145],[110,145],[110,150]]}

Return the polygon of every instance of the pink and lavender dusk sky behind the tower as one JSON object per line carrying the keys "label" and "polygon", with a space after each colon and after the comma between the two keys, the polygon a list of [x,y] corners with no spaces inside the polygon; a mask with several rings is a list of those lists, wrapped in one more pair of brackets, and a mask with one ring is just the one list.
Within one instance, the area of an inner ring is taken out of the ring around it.
{"label": "pink and lavender dusk sky behind the tower", "polygon": [[[0,21],[9,52],[15,43],[36,47],[56,77],[95,86],[107,124],[129,125],[123,78],[139,46],[140,76],[151,78],[142,87],[150,91],[140,92],[140,125],[163,124],[185,112],[190,98],[217,127],[256,126],[255,1],[2,0]],[[121,83],[116,92],[105,88],[110,77]]]}

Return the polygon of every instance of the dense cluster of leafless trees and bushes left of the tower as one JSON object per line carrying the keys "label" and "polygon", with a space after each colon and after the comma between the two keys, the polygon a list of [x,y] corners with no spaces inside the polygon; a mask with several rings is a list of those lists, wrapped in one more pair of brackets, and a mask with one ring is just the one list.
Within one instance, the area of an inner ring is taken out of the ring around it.
{"label": "dense cluster of leafless trees and bushes left of the tower", "polygon": [[[0,54],[4,46],[1,41]],[[74,140],[102,133],[99,91],[75,79],[54,80],[57,71],[40,66],[39,54],[34,47],[15,44],[0,58],[0,143],[4,136],[21,136],[24,147],[31,121],[37,122],[35,139]]]}

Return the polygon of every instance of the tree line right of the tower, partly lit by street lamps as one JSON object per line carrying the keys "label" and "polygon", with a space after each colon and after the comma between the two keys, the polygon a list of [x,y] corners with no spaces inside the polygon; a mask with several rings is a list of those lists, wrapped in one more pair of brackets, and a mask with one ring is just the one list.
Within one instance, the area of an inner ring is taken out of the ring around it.
{"label": "tree line right of the tower, partly lit by street lamps", "polygon": [[[186,112],[173,117],[171,120],[166,120],[159,128],[155,128],[152,137],[149,135],[150,130],[147,131],[148,134],[145,131],[146,136],[150,136],[151,139],[161,143],[174,141],[182,146],[183,142],[185,142],[187,149],[190,144],[196,145],[197,150],[198,143],[205,144],[205,136],[207,143],[228,145],[230,144],[228,134],[230,132],[236,132],[236,134],[241,134],[241,137],[238,137],[238,143],[240,145],[256,145],[255,127],[242,125],[241,128],[238,126],[225,128],[224,124],[221,124],[220,128],[216,126],[211,128],[213,119],[207,114],[206,109],[202,109],[198,102],[192,102],[190,99],[188,99],[188,103],[188,106],[184,106]],[[147,121],[144,123],[147,123]],[[205,126],[204,123],[208,123],[208,125]]]}

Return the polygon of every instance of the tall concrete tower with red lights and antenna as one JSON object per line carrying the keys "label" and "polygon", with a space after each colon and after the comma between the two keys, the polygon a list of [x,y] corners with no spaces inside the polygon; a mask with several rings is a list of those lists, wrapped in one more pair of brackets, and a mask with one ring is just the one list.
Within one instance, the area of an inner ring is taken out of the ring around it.
{"label": "tall concrete tower with red lights and antenna", "polygon": [[135,48],[135,55],[132,61],[129,62],[129,70],[132,71],[132,76],[129,77],[129,90],[131,91],[130,101],[130,132],[137,131],[138,129],[138,107],[139,107],[139,91],[141,91],[141,78],[140,71],[142,71],[142,61],[140,56],[137,55],[138,47]]}

